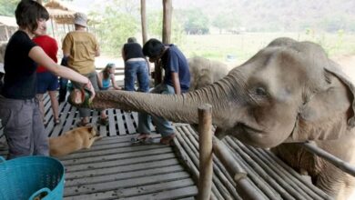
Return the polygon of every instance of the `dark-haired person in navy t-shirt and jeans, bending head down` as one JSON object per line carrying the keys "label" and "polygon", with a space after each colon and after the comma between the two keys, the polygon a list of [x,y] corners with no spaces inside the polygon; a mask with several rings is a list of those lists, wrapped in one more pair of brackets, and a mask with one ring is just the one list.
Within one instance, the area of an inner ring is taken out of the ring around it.
{"label": "dark-haired person in navy t-shirt and jeans, bending head down", "polygon": [[[151,63],[161,62],[165,70],[163,83],[153,88],[151,93],[179,95],[188,92],[190,85],[188,60],[176,45],[165,45],[153,38],[143,46],[143,54],[149,57]],[[138,133],[140,135],[137,139],[145,140],[149,137],[151,120],[157,126],[157,133],[162,136],[160,143],[170,145],[175,137],[175,130],[171,122],[162,117],[147,115],[147,113],[138,114]]]}

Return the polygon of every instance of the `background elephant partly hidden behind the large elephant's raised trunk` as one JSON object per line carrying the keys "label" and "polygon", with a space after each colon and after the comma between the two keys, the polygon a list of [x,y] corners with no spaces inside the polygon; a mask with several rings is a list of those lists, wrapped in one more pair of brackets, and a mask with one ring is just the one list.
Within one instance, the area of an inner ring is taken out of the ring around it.
{"label": "background elephant partly hidden behind the large elephant's raised trunk", "polygon": [[188,67],[191,75],[188,91],[211,85],[228,75],[229,72],[228,65],[200,56],[188,58]]}

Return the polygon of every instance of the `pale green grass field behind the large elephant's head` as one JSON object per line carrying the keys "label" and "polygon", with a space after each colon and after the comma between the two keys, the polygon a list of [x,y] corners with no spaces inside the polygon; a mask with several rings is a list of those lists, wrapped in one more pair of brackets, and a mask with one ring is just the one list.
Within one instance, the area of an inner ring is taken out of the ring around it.
{"label": "pale green grass field behind the large elephant's head", "polygon": [[[312,41],[320,44],[329,56],[355,55],[355,34],[315,34],[315,33],[242,33],[239,35],[186,35],[177,44],[188,57],[195,55],[240,64],[259,49],[277,37],[291,37],[298,41]],[[229,59],[230,61],[230,59]]]}

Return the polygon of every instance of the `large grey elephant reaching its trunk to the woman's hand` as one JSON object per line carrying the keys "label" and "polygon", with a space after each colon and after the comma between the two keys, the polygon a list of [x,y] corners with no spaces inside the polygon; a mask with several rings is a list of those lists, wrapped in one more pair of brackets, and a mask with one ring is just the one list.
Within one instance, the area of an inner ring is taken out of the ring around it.
{"label": "large grey elephant reaching its trunk to the woman's hand", "polygon": [[[80,104],[80,99],[75,101]],[[217,82],[183,95],[97,92],[92,108],[119,108],[198,124],[198,106],[212,105],[215,135],[271,148],[336,199],[354,196],[355,178],[292,143],[314,141],[355,164],[354,86],[320,45],[273,40]]]}

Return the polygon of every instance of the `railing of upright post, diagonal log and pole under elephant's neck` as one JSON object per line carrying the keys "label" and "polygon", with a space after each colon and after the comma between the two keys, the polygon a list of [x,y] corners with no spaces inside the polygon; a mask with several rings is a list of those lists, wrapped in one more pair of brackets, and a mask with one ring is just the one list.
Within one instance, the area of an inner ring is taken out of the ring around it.
{"label": "railing of upright post, diagonal log and pole under elephant's neck", "polygon": [[[266,199],[264,195],[250,184],[247,178],[248,174],[233,159],[228,147],[221,143],[212,135],[212,107],[211,105],[202,105],[198,107],[198,135],[199,135],[199,178],[198,178],[198,199],[211,199],[213,154],[226,167],[228,174],[236,182],[238,195],[243,199]],[[340,158],[331,155],[318,147],[314,142],[299,143],[310,153],[318,155],[337,166],[345,173],[355,176],[355,167]]]}

